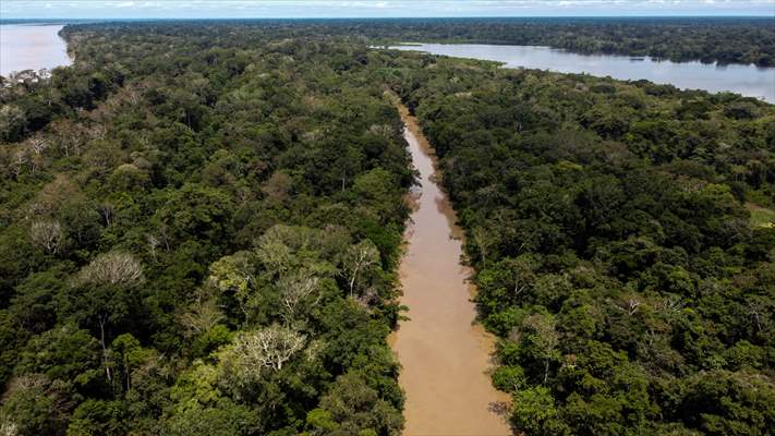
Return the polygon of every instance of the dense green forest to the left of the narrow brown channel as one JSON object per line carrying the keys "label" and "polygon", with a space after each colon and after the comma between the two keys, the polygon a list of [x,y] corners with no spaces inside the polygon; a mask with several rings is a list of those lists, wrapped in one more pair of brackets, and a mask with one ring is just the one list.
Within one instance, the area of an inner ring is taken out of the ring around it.
{"label": "dense green forest to the left of the narrow brown channel", "polygon": [[0,433],[398,435],[413,173],[366,48],[64,35],[0,90]]}

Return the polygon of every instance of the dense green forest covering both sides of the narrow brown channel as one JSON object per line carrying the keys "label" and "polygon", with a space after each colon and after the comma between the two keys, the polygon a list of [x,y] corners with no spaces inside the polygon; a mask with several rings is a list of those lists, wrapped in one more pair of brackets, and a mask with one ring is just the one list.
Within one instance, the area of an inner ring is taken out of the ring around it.
{"label": "dense green forest covering both sides of the narrow brown channel", "polygon": [[71,25],[72,66],[1,83],[0,435],[398,435],[387,90],[516,428],[768,434],[775,107],[370,49],[415,35],[380,23]]}

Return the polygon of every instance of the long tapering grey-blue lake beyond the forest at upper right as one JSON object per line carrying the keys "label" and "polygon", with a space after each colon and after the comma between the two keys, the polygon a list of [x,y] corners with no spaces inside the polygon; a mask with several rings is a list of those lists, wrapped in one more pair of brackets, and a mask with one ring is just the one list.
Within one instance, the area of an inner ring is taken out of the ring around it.
{"label": "long tapering grey-blue lake beyond the forest at upper right", "polygon": [[507,68],[523,66],[560,73],[586,73],[625,81],[644,78],[654,83],[671,84],[682,89],[704,89],[711,93],[728,90],[775,104],[775,68],[671,62],[647,57],[577,55],[536,46],[420,44],[390,48],[504,62]]}

